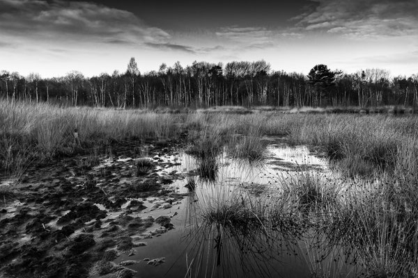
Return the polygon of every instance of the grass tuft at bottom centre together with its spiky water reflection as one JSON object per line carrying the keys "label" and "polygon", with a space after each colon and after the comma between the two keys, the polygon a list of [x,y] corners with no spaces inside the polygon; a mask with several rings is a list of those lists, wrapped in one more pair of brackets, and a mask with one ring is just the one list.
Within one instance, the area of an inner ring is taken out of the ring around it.
{"label": "grass tuft at bottom centre together with its spiky water reflection", "polygon": [[267,265],[277,261],[268,243],[277,238],[265,226],[266,206],[231,186],[209,183],[201,189],[194,195],[198,202],[188,202],[194,209],[189,277],[269,276]]}

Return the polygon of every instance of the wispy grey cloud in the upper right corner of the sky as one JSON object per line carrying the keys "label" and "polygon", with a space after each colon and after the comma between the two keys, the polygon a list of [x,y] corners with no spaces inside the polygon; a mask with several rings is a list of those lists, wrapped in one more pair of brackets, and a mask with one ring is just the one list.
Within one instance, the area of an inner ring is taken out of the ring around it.
{"label": "wispy grey cloud in the upper right corner of the sky", "polygon": [[341,33],[353,38],[417,35],[416,0],[312,0],[316,6],[297,17],[307,31]]}

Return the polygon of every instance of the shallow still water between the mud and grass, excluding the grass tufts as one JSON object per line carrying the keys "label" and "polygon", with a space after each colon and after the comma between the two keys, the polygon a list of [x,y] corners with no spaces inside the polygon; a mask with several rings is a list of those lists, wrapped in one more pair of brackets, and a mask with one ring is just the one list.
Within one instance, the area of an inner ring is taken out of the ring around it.
{"label": "shallow still water between the mud and grass, excluding the grass tufts", "polygon": [[[169,188],[187,193],[184,186],[194,179],[196,191],[158,212],[150,209],[153,202],[147,200],[148,209],[137,216],[157,217],[166,213],[175,229],[146,238],[147,245],[137,247],[136,255],[122,254],[115,262],[139,261],[130,265],[137,270],[136,277],[356,277],[357,266],[350,265],[340,247],[328,245],[326,239],[315,238],[309,231],[303,234],[267,231],[262,225],[235,229],[228,224],[202,220],[201,215],[208,207],[229,204],[243,192],[253,194],[252,189],[257,186],[261,192],[265,188],[274,190],[286,177],[302,171],[332,174],[327,161],[310,154],[307,147],[287,147],[281,138],[266,140],[269,146],[263,163],[239,161],[226,152],[219,155],[215,182],[199,178],[196,174],[199,162],[193,156],[180,152],[167,158],[176,161],[176,165],[161,168],[158,174],[180,172],[185,177]],[[272,204],[269,202],[265,204]],[[148,231],[155,228],[154,224]],[[157,266],[144,261],[162,257],[164,263]]]}

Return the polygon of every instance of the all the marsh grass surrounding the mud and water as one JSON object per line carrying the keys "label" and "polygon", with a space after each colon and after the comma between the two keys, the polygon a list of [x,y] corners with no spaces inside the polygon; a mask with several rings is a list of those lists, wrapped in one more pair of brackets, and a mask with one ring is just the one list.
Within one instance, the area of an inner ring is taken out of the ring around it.
{"label": "all the marsh grass surrounding the mud and water", "polygon": [[[199,227],[212,227],[212,239],[219,244],[233,234],[261,243],[274,242],[277,233],[297,238],[313,233],[332,246],[342,246],[348,261],[357,261],[370,277],[413,277],[417,271],[415,116],[204,110],[168,114],[4,100],[0,107],[0,170],[7,178],[19,178],[31,163],[79,154],[87,157],[80,162],[86,165],[80,166],[92,167],[94,158],[112,144],[132,142],[141,153],[146,142],[180,142],[198,161],[201,179],[216,181],[219,156],[263,161],[263,138],[285,136],[289,145],[307,145],[325,155],[334,176],[300,167],[274,180],[281,190],[263,188],[256,195],[245,188],[207,183],[212,186],[206,188],[209,195],[196,202],[203,220]],[[136,174],[142,176],[153,167],[148,158],[140,158]],[[199,196],[201,184],[189,179],[187,188],[190,196]],[[127,192],[143,197],[158,189],[160,184],[139,181]],[[0,202],[10,197],[13,190],[1,187]],[[312,265],[313,275],[320,271]]]}

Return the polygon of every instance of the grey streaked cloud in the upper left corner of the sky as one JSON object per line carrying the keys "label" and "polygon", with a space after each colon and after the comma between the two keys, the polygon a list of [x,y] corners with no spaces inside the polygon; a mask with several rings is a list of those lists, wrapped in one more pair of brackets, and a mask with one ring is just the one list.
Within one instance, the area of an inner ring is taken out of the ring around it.
{"label": "grey streaked cloud in the upper left corner of the sky", "polygon": [[82,1],[0,0],[0,35],[39,42],[166,42],[171,35],[133,13]]}

